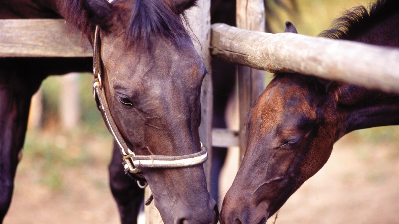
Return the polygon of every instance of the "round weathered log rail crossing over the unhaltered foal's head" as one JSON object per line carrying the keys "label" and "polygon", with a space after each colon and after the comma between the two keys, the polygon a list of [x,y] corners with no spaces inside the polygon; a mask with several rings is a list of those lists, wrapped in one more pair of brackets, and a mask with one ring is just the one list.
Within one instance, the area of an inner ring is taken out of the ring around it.
{"label": "round weathered log rail crossing over the unhaltered foal's head", "polygon": [[399,49],[213,24],[211,54],[269,72],[298,72],[399,94]]}

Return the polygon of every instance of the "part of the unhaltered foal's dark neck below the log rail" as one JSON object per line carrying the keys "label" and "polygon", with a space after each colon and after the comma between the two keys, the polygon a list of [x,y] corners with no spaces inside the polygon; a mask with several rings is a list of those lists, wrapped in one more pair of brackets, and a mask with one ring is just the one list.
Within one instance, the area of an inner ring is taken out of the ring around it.
{"label": "part of the unhaltered foal's dark neck below the log rail", "polygon": [[399,125],[399,95],[352,84],[340,86],[337,92],[336,109],[344,122],[342,136],[363,128]]}

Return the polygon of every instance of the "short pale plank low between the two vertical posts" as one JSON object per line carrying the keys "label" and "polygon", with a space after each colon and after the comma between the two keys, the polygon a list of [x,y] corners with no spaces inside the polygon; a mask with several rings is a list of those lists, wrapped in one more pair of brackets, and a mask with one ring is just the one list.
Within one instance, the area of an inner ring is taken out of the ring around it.
{"label": "short pale plank low between the two vertical posts", "polygon": [[239,145],[239,132],[224,128],[212,128],[212,146],[231,147]]}

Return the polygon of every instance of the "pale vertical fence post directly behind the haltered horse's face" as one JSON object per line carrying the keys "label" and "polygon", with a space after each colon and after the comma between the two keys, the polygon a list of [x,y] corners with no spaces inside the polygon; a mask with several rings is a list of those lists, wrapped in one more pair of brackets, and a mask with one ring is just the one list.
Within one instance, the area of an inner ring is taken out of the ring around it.
{"label": "pale vertical fence post directly behind the haltered horse's face", "polygon": [[[192,41],[199,55],[202,57],[205,66],[209,72],[202,82],[201,88],[201,125],[199,126],[199,138],[208,150],[208,160],[204,163],[205,175],[207,178],[208,189],[211,173],[211,149],[212,149],[212,80],[210,77],[211,58],[209,54],[209,45],[211,42],[211,18],[210,18],[210,0],[198,0],[195,7],[186,11],[192,30]],[[145,190],[145,199],[150,195],[150,189]],[[161,216],[152,202],[144,207],[146,224],[162,224]]]}

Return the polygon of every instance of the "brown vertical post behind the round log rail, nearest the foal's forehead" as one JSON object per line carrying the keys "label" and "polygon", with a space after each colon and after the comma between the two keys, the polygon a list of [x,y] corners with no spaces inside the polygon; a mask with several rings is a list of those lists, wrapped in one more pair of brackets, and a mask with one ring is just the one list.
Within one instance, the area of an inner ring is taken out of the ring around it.
{"label": "brown vertical post behind the round log rail, nearest the foal's forehead", "polygon": [[[265,31],[265,6],[263,0],[237,0],[236,10],[237,28],[254,31]],[[245,129],[245,116],[256,98],[265,89],[265,72],[238,66],[238,93],[239,93],[239,147],[240,158],[244,157],[247,144],[247,130]]]}

